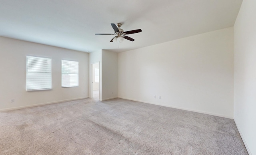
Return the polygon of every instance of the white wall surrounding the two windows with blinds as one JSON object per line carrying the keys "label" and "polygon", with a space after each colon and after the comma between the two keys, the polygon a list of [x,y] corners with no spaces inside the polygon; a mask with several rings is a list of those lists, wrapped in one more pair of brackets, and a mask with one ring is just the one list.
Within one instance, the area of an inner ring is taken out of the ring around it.
{"label": "white wall surrounding the two windows with blinds", "polygon": [[[52,90],[26,91],[26,55],[52,58]],[[61,60],[79,62],[79,87],[61,88]],[[0,37],[0,109],[88,97],[88,54]],[[14,103],[10,99],[14,98]]]}

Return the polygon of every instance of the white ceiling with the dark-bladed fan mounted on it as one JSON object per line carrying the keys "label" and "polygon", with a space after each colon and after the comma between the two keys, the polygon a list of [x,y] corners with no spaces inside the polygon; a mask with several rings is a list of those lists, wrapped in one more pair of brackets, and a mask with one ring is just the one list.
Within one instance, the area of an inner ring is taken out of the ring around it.
{"label": "white ceiling with the dark-bladed fan mounted on it", "polygon": [[[0,36],[78,51],[123,52],[234,26],[242,0],[0,0]],[[135,41],[110,42],[110,23]]]}

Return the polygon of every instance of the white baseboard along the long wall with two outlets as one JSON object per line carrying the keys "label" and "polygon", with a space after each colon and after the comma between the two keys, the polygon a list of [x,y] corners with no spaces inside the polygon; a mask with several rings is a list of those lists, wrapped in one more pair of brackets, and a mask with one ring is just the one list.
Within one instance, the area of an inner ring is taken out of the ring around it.
{"label": "white baseboard along the long wall with two outlets", "polygon": [[219,116],[219,117],[225,117],[225,118],[229,118],[229,119],[233,119],[233,118],[234,118],[234,117],[232,117],[232,116],[222,115],[222,114],[218,114],[218,113],[211,113],[211,112],[207,112],[207,111],[200,111],[200,110],[194,110],[194,109],[187,109],[187,108],[183,108],[183,107],[175,107],[175,106],[164,105],[164,104],[159,104],[159,103],[152,103],[152,102],[148,102],[148,101],[141,101],[141,100],[138,100],[138,99],[130,99],[130,98],[120,97],[120,96],[118,96],[118,98],[121,98],[121,99],[128,99],[128,100],[138,101],[138,102],[143,102],[143,103],[149,103],[149,104],[154,104],[154,105],[160,105],[160,106],[164,106],[164,107],[172,107],[172,108],[175,108],[175,109],[193,111],[193,112],[197,112],[197,113],[204,113],[204,114],[208,114],[208,115],[214,115],[214,116]]}

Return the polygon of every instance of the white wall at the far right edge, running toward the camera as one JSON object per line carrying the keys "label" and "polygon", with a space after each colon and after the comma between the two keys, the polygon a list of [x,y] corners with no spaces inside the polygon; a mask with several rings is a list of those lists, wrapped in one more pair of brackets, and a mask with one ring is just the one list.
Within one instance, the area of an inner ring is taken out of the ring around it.
{"label": "white wall at the far right edge, running toward the camera", "polygon": [[256,155],[256,0],[244,0],[234,25],[234,120]]}

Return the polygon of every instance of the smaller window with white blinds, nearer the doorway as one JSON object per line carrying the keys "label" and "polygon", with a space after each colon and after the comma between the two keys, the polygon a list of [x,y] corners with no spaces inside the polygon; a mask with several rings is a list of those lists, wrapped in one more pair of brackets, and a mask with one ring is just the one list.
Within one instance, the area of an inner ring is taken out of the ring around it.
{"label": "smaller window with white blinds, nearer the doorway", "polygon": [[61,60],[61,86],[78,87],[78,62]]}

